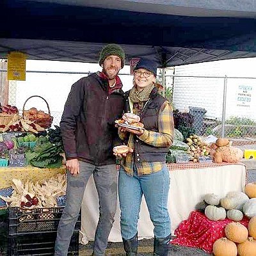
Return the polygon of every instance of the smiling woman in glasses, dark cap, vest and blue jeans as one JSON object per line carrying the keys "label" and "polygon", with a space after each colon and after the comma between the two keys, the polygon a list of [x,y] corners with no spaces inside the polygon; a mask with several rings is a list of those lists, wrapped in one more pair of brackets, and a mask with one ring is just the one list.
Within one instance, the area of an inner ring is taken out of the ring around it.
{"label": "smiling woman in glasses, dark cap, vest and blue jeans", "polygon": [[122,156],[118,185],[126,255],[137,255],[142,195],[154,224],[154,255],[168,255],[170,177],[165,161],[174,125],[170,102],[157,93],[156,75],[156,63],[141,58],[134,68],[134,86],[126,93],[125,112],[139,115],[144,129],[120,128],[120,138],[132,149]]}

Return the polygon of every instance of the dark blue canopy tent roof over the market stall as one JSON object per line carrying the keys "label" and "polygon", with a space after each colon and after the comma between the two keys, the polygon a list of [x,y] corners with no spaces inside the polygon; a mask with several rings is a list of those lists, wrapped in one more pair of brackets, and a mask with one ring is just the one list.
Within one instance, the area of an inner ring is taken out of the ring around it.
{"label": "dark blue canopy tent roof over the market stall", "polygon": [[[212,3],[211,3],[212,2]],[[0,58],[97,62],[102,45],[126,64],[159,67],[256,56],[256,3],[249,0],[1,0]]]}

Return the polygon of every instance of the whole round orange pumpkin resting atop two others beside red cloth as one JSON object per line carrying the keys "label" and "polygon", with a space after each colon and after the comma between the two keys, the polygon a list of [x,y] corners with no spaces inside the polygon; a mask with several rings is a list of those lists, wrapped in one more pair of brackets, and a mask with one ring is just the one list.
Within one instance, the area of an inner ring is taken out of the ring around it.
{"label": "whole round orange pumpkin resting atop two others beside red cloth", "polygon": [[230,222],[225,227],[225,235],[235,243],[243,243],[248,237],[248,229],[240,222]]}

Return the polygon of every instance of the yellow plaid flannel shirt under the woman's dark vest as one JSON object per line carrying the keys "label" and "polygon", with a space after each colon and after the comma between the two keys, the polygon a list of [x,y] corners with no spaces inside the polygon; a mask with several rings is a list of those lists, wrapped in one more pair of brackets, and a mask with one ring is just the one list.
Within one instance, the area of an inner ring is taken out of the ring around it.
{"label": "yellow plaid flannel shirt under the woman's dark vest", "polygon": [[[141,136],[134,136],[130,134],[128,146],[134,148],[134,140],[141,140],[145,143],[152,145],[154,147],[170,147],[173,141],[174,123],[173,123],[173,113],[172,106],[167,100],[161,106],[158,115],[158,126],[159,131],[147,131],[145,130]],[[124,134],[123,134],[124,135]],[[120,137],[122,135],[120,134]],[[134,161],[134,154],[129,153],[127,157],[123,157],[121,160],[121,165],[128,175],[133,175],[133,166],[136,165],[138,175],[147,175],[154,172],[159,172],[165,162],[147,162]]]}

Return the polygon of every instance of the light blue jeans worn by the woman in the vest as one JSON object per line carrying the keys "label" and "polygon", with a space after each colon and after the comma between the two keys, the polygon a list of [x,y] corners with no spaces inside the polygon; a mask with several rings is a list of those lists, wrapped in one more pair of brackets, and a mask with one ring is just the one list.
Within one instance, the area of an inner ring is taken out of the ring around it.
{"label": "light blue jeans worn by the woman in the vest", "polygon": [[127,175],[120,168],[118,193],[121,209],[121,234],[124,239],[131,239],[138,230],[141,198],[144,195],[150,219],[154,224],[156,238],[171,234],[170,216],[168,213],[168,192],[170,176],[166,164],[161,171],[138,176],[134,167],[134,176]]}

